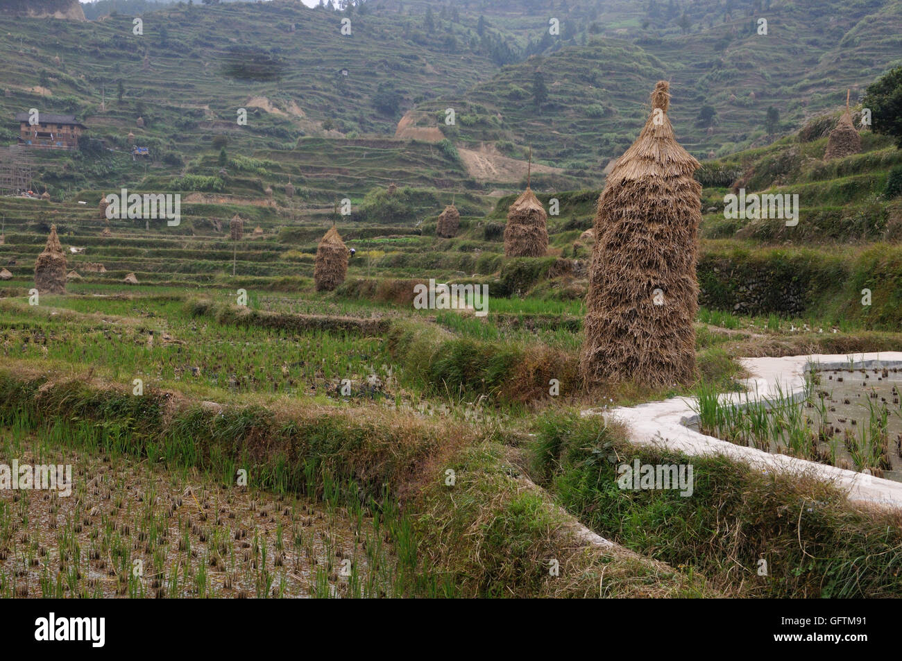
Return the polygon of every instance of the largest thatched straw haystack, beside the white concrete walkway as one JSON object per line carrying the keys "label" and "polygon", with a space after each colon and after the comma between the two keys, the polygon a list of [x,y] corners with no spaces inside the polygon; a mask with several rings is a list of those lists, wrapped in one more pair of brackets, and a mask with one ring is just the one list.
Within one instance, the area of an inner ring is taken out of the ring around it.
{"label": "largest thatched straw haystack, beside the white concrete walkway", "polygon": [[598,199],[580,356],[586,386],[695,378],[702,187],[693,178],[699,162],[667,118],[668,89],[655,86],[652,114]]}

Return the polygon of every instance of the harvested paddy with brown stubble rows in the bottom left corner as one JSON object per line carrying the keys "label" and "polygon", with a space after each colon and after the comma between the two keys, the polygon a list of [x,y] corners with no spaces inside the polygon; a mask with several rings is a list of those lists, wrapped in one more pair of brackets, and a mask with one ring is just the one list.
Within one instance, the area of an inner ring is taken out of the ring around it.
{"label": "harvested paddy with brown stubble rows in the bottom left corner", "polygon": [[147,459],[49,452],[9,429],[0,450],[0,464],[71,466],[58,485],[69,496],[0,490],[0,597],[391,594],[386,534],[362,511]]}

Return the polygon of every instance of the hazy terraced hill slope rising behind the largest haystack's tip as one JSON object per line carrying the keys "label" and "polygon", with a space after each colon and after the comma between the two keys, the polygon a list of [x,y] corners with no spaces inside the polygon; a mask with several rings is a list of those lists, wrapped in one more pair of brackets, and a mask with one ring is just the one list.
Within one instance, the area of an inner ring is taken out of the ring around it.
{"label": "hazy terraced hill slope rising behind the largest haystack's tip", "polygon": [[[723,156],[772,142],[835,109],[847,88],[856,99],[871,80],[902,63],[902,3],[828,2],[811,14],[805,3],[774,2],[763,12],[766,36],[756,32],[762,12],[754,13],[753,3],[731,5],[730,12],[718,11],[719,3],[685,5],[686,33],[643,28],[648,19],[624,9],[623,23],[597,23],[597,35],[574,35],[559,50],[418,109],[459,106],[465,116],[455,127],[436,124],[449,137],[495,142],[518,156],[531,144],[539,161],[597,178],[638,133],[647,112],[642,90],[655,79],[671,81],[677,135],[705,158],[710,151]],[[537,73],[547,89],[538,105]],[[710,114],[703,116],[705,106]],[[774,135],[766,129],[770,106],[780,118]]]}

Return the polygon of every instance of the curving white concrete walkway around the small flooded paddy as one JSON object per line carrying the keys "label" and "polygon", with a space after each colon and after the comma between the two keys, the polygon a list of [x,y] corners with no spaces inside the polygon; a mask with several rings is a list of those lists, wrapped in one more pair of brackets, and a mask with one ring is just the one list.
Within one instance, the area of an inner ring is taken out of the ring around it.
{"label": "curving white concrete walkway around the small flooded paddy", "polygon": [[[850,359],[853,364],[850,363]],[[809,363],[818,369],[854,369],[900,367],[902,352],[855,353],[851,355],[814,354],[784,358],[744,358],[741,362],[752,375],[748,393],[723,395],[722,401],[744,402],[746,398],[769,399],[778,396],[801,397],[805,391],[805,369]],[[757,395],[756,395],[757,393]],[[805,473],[818,480],[833,482],[849,491],[850,500],[867,501],[893,508],[902,507],[902,482],[893,482],[868,474],[846,471],[826,464],[796,459],[785,454],[769,454],[752,447],[735,445],[713,436],[705,436],[686,427],[697,422],[692,409],[694,398],[673,398],[649,402],[629,409],[587,409],[584,416],[602,415],[605,422],[618,420],[629,429],[630,441],[638,445],[662,445],[689,455],[723,454],[763,471]]]}

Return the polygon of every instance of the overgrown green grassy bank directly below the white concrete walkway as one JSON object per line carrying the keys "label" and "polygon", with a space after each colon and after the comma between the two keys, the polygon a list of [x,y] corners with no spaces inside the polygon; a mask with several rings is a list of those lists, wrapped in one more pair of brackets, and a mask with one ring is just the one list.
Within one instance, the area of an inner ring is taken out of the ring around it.
{"label": "overgrown green grassy bank directly below the white concrete walkway", "polygon": [[[704,574],[731,596],[879,597],[897,591],[897,511],[856,510],[833,486],[762,473],[723,456],[629,445],[621,429],[594,418],[548,416],[537,431],[533,470],[567,510],[604,537]],[[692,464],[692,497],[676,490],[621,490],[617,468],[634,460]]]}

